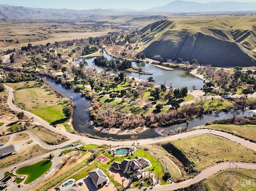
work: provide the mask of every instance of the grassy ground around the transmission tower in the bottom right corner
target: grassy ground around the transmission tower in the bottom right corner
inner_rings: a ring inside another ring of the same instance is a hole
[[[227,181],[228,185],[232,187],[232,191],[254,191],[256,190],[256,170],[251,169],[238,169],[234,179],[230,178]],[[219,191],[223,185],[223,182],[228,177],[228,171],[221,171],[215,175],[210,176],[202,183],[206,183],[210,191]]]

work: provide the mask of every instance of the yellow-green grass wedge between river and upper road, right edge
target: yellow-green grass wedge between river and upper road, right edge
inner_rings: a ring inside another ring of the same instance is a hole
[[[224,130],[234,135],[241,136],[256,141],[256,128],[255,125],[235,125],[235,124],[213,124],[208,126],[202,126],[199,128],[209,128],[216,130]]]

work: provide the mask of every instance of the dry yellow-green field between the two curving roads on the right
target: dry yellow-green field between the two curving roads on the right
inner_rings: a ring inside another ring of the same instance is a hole
[[[256,155],[252,150],[215,135],[190,136],[171,143],[194,163],[197,171],[219,161],[256,162]]]

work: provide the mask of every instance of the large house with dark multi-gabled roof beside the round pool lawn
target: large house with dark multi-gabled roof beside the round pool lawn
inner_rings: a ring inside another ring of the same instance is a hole
[[[115,170],[121,170],[123,173],[134,173],[137,178],[142,176],[142,169],[150,165],[148,159],[136,156],[134,159],[124,159],[121,163],[114,161],[111,167]]]

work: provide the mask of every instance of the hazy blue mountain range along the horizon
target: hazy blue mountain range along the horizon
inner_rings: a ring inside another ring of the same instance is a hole
[[[0,19],[31,19],[44,20],[53,19],[91,19],[102,18],[105,15],[125,14],[152,14],[156,12],[231,12],[231,11],[253,11],[256,10],[256,2],[210,2],[197,3],[186,1],[174,1],[160,7],[153,7],[148,10],[129,9],[92,9],[92,10],[70,10],[70,9],[46,9],[28,8],[22,6],[0,5]]]

